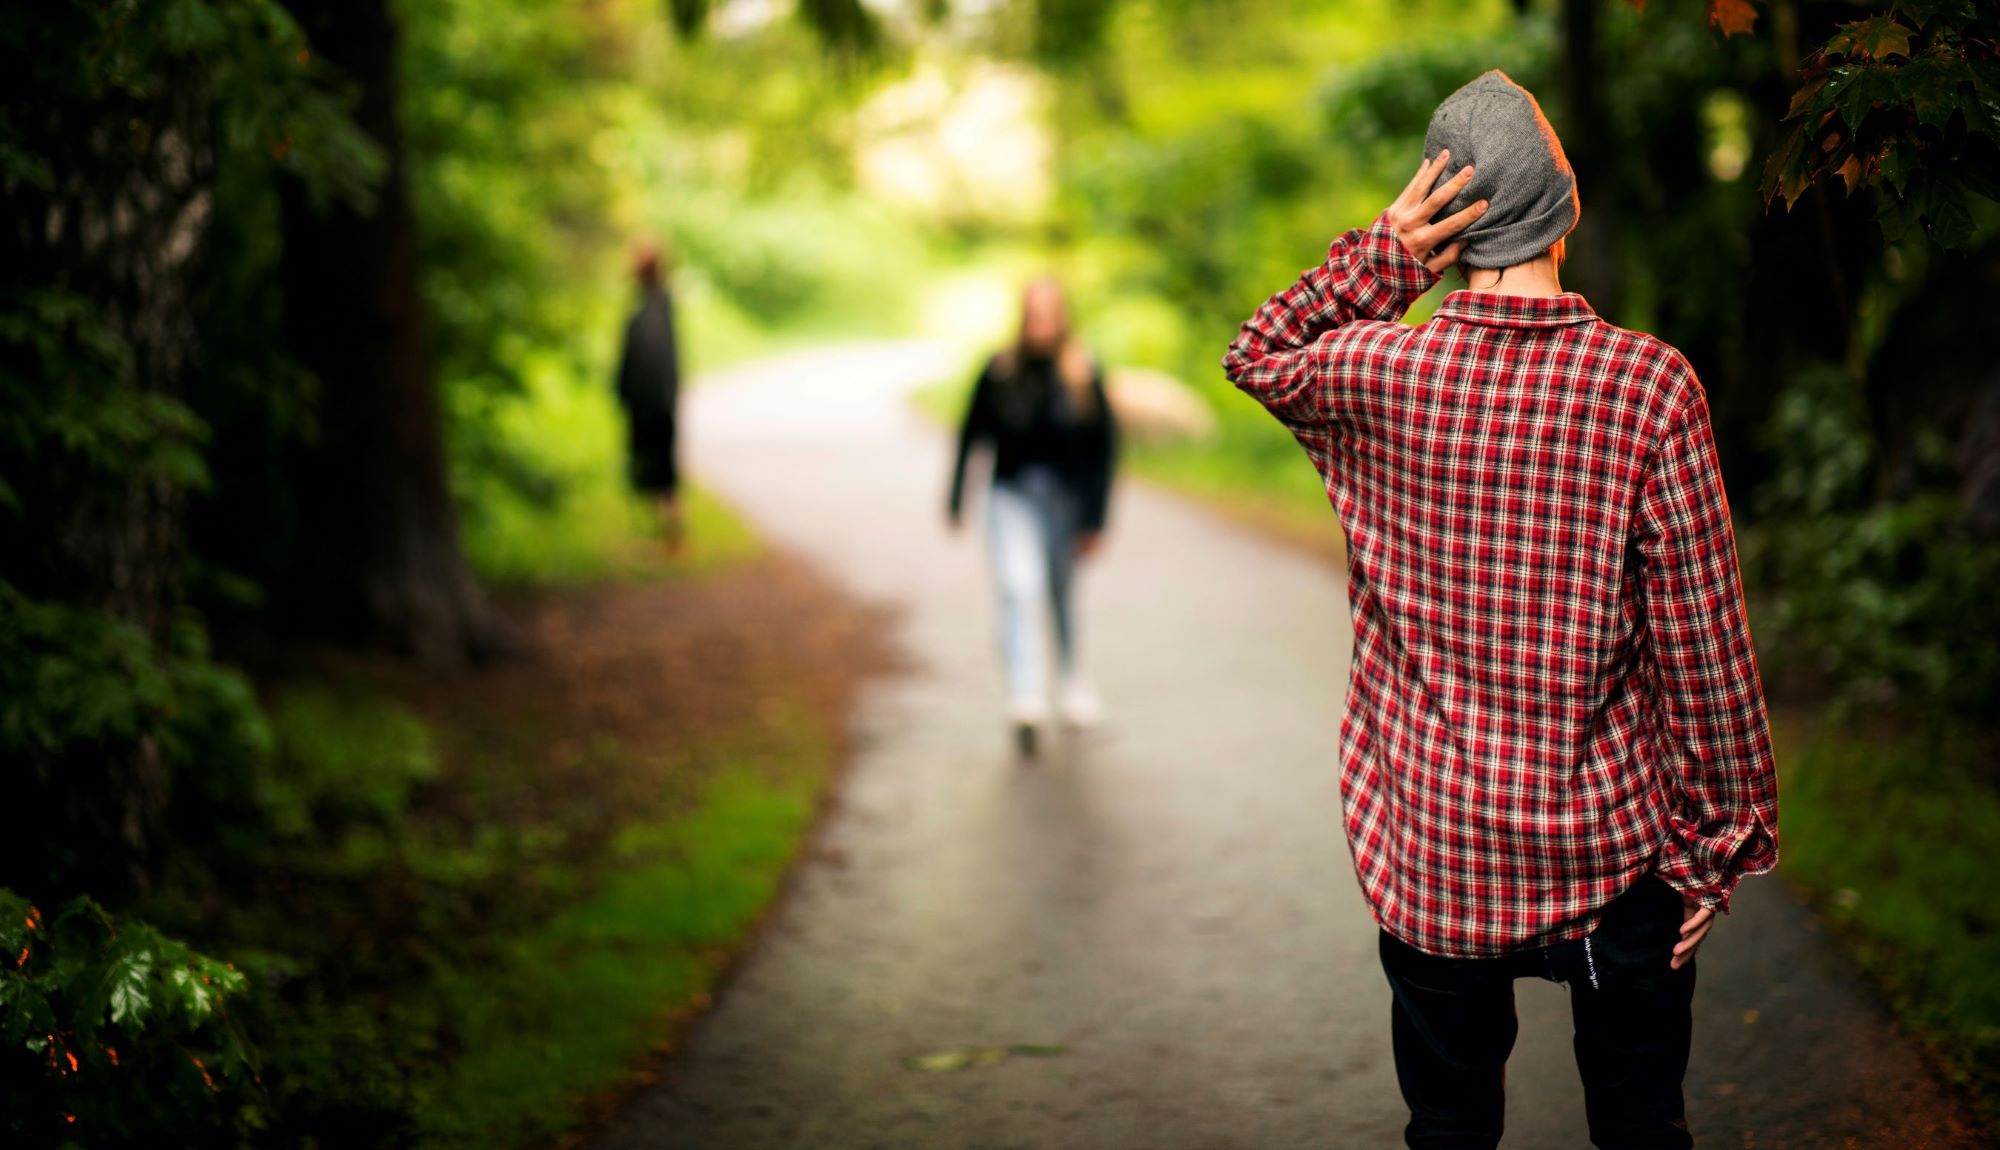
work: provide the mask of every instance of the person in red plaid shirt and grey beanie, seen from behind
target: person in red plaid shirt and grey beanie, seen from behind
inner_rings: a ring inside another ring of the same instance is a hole
[[[1708,404],[1562,290],[1576,184],[1532,94],[1480,76],[1424,154],[1222,360],[1348,540],[1340,792],[1406,1142],[1500,1142],[1514,980],[1540,976],[1570,986],[1592,1142],[1692,1146],[1694,952],[1778,860]],[[1466,290],[1402,324],[1454,264]]]

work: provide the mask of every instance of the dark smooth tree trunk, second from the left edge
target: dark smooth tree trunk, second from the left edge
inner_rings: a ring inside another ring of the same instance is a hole
[[[388,170],[372,212],[286,194],[286,340],[322,392],[300,474],[300,564],[280,606],[308,634],[460,664],[500,650],[504,634],[460,550],[446,478],[416,280],[398,28],[386,0],[290,6],[314,48],[358,84],[354,118]]]

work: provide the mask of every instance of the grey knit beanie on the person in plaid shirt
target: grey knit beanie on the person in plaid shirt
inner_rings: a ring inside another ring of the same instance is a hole
[[[1466,164],[1476,172],[1438,216],[1486,200],[1486,214],[1458,234],[1466,242],[1462,264],[1512,268],[1540,256],[1576,226],[1576,174],[1562,154],[1562,140],[1534,94],[1508,80],[1506,72],[1486,72],[1438,104],[1424,136],[1424,158],[1444,148],[1452,150],[1446,178]]]

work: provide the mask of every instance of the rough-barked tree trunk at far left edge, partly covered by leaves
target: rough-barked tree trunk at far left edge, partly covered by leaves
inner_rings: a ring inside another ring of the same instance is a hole
[[[82,314],[32,320],[54,350],[38,356],[34,340],[10,338],[0,370],[34,382],[38,408],[84,408],[84,418],[176,402],[196,358],[192,288],[212,202],[206,76],[182,66],[150,96],[52,94],[38,68],[66,66],[78,32],[52,18],[38,36],[6,62],[0,116],[48,160],[50,180],[0,182],[0,292],[10,304],[70,300]],[[92,332],[120,352],[94,350]],[[4,418],[36,426],[30,412]],[[180,598],[184,492],[172,468],[136,458],[160,446],[106,458],[46,428],[28,442],[6,436],[0,462],[18,508],[0,514],[0,580],[164,646]],[[0,836],[0,884],[28,894],[142,886],[168,800],[158,740],[24,740],[14,750],[24,762],[6,764],[22,790],[12,800],[34,826]]]

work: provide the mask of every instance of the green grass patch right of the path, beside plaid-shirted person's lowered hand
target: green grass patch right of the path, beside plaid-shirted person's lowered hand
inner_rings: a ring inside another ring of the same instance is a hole
[[[1794,716],[1778,736],[1782,872],[2000,1122],[2000,792],[1982,736],[1842,716]]]

